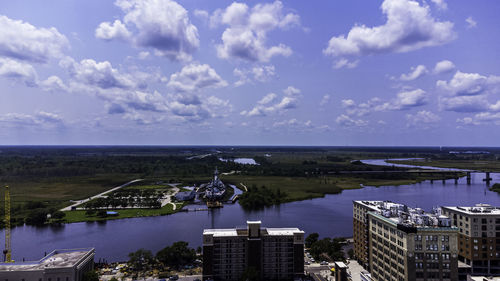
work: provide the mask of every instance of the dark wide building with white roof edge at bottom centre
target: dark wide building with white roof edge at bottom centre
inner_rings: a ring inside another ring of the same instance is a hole
[[[294,280],[304,275],[304,231],[263,228],[247,221],[246,228],[203,231],[203,280],[239,280],[245,273],[261,280]]]

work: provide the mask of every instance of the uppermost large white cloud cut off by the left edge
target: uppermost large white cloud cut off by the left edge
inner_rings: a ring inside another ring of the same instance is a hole
[[[68,39],[54,27],[38,28],[0,15],[0,30],[0,56],[4,57],[46,63],[69,47]]]

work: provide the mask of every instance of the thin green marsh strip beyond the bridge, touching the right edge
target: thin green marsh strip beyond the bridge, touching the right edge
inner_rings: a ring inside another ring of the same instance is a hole
[[[500,172],[500,161],[493,160],[432,160],[432,161],[388,161],[395,164],[434,166],[465,170]]]

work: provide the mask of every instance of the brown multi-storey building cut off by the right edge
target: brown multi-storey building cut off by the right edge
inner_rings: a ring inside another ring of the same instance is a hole
[[[477,204],[442,210],[459,229],[459,260],[471,266],[471,274],[500,276],[500,208]]]

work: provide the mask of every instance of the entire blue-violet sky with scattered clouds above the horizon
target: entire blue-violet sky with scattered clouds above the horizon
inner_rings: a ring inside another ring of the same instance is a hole
[[[498,1],[0,1],[0,144],[500,137]]]

